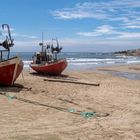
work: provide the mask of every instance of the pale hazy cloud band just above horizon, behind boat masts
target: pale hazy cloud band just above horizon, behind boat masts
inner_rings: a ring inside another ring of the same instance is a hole
[[[124,35],[125,36],[125,35]],[[16,52],[35,52],[41,48],[38,45],[40,40],[28,40],[15,42],[15,46],[12,47],[12,51]],[[63,47],[62,51],[94,51],[94,52],[109,52],[120,51],[125,49],[135,49],[140,47],[140,40],[126,40],[124,38],[114,39],[97,39],[97,38],[61,38],[59,39],[60,45]]]

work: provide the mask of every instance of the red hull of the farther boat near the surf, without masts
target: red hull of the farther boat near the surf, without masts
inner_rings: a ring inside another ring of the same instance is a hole
[[[38,73],[44,73],[48,75],[61,75],[62,71],[67,67],[67,61],[65,59],[58,60],[54,63],[31,64],[30,67]]]

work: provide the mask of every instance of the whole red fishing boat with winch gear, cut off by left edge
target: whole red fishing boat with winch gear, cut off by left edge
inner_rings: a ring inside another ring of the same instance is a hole
[[[2,29],[7,28],[8,35],[0,43],[4,50],[0,50],[0,85],[12,86],[23,69],[23,62],[18,56],[10,58],[10,47],[13,47],[10,27],[8,24],[2,24]]]

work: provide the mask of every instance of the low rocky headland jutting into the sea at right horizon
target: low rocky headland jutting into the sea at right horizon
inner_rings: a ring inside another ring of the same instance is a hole
[[[140,56],[140,49],[119,51],[115,52],[114,54],[121,54],[126,56]]]

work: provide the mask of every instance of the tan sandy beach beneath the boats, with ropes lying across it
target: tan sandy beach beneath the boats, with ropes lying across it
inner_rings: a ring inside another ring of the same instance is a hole
[[[24,70],[14,87],[0,87],[0,139],[139,140],[140,80],[101,69],[140,73],[140,65],[127,65],[53,77],[100,84],[91,86],[49,82]]]

